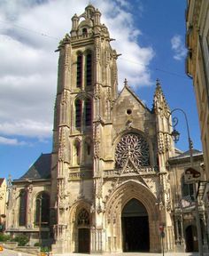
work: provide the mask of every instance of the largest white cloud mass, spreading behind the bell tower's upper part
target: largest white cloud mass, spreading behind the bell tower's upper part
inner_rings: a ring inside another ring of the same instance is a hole
[[[45,140],[52,133],[56,97],[58,52],[54,51],[59,40],[70,32],[74,13],[84,12],[89,0],[3,2],[0,3],[0,135]],[[122,54],[118,60],[120,89],[124,78],[133,87],[151,84],[149,64],[154,51],[137,43],[143,35],[135,27],[129,2],[93,0],[91,3],[102,12],[102,23],[116,39],[112,48]]]

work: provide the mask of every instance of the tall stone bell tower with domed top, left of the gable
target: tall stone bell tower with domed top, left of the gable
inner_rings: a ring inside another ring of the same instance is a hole
[[[79,243],[69,239],[73,236],[70,226],[77,221],[69,220],[69,212],[80,203],[90,212],[96,204],[94,195],[99,193],[100,136],[105,124],[111,123],[111,108],[118,95],[118,56],[100,17],[89,4],[80,16],[74,14],[70,35],[58,45],[50,200],[53,252],[79,252]]]

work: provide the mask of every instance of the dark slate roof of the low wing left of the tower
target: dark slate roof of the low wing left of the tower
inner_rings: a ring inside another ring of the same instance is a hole
[[[28,171],[19,178],[19,180],[25,179],[50,179],[50,164],[51,154],[42,154],[38,157],[34,164],[30,166]]]

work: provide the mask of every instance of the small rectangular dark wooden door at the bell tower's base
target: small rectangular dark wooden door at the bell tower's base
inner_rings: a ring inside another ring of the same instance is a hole
[[[89,228],[78,229],[78,252],[89,253],[90,230]]]

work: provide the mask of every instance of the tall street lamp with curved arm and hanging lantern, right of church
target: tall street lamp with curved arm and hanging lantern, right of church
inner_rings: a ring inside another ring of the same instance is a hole
[[[186,170],[187,171],[190,171],[190,175],[192,174],[193,175],[193,178],[196,178],[194,177],[194,173],[196,172],[197,174],[197,171],[193,168],[193,154],[192,154],[192,148],[193,148],[193,143],[192,143],[192,140],[190,139],[190,129],[189,129],[189,123],[188,123],[188,119],[187,119],[187,115],[186,113],[182,110],[182,108],[174,108],[171,113],[170,113],[170,116],[172,116],[172,114],[175,112],[175,111],[180,111],[182,112],[184,118],[185,118],[185,122],[186,122],[186,127],[187,127],[187,136],[188,136],[188,143],[189,143],[189,150],[190,150],[190,168],[188,168]],[[180,138],[180,132],[178,132],[175,127],[176,125],[178,124],[178,118],[177,117],[173,117],[172,118],[173,120],[173,125],[172,127],[174,128],[173,132],[171,132],[171,136],[172,136],[172,139],[174,140],[174,142],[176,143],[179,138]],[[169,120],[168,120],[169,121]],[[192,173],[193,172],[193,173]],[[184,173],[184,175],[187,174],[187,173]],[[198,176],[199,177],[199,176]],[[197,177],[197,178],[198,178]],[[185,179],[186,180],[186,179]],[[192,180],[192,183],[193,183],[193,187],[194,187],[194,194],[197,195],[197,187],[196,187],[196,179],[193,179]],[[195,210],[196,210],[196,223],[197,223],[197,239],[198,239],[198,251],[199,251],[199,255],[200,256],[203,256],[203,242],[202,242],[202,232],[201,232],[201,226],[200,226],[200,220],[199,220],[199,209],[198,209],[198,201],[197,201],[197,196],[195,196]]]

